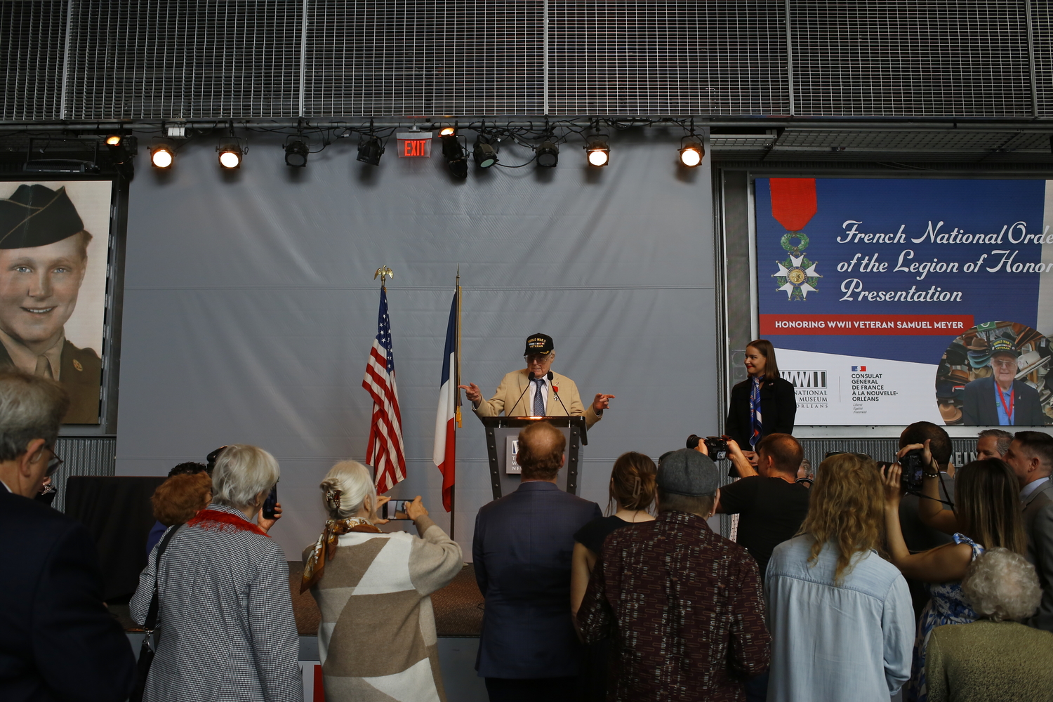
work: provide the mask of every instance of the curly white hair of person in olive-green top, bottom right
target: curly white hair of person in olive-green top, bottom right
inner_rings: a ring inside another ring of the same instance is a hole
[[[1035,614],[1042,597],[1035,566],[1008,548],[991,548],[969,566],[961,591],[973,611],[996,622]]]

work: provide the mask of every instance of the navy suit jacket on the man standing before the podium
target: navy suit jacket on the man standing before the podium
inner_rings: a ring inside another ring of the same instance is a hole
[[[574,534],[599,505],[553,483],[529,482],[475,518],[475,579],[486,600],[475,669],[484,678],[578,673],[571,622]]]

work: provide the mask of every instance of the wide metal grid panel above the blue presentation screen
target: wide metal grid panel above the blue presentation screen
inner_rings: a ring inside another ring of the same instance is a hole
[[[1022,0],[791,0],[801,116],[1030,117]]]

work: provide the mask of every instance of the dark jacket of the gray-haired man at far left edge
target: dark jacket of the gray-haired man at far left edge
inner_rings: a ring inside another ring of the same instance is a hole
[[[0,485],[0,700],[119,702],[135,681],[127,637],[99,595],[83,526]]]

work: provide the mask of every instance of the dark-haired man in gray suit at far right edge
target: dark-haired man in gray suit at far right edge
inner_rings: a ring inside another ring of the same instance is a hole
[[[1017,432],[1006,462],[1020,482],[1028,560],[1035,564],[1042,587],[1041,604],[1028,623],[1053,631],[1053,437],[1044,432]]]

